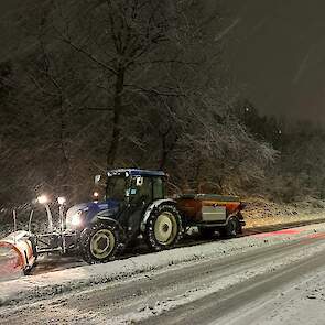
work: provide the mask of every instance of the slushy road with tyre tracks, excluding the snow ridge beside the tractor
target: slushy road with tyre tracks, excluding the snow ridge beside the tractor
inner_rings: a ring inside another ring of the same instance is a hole
[[[171,263],[127,279],[3,306],[0,323],[236,325],[304,319],[304,324],[324,324],[325,229],[318,227],[317,234],[308,231],[291,240],[282,240],[283,232],[257,236],[260,246],[223,258],[216,254]],[[247,240],[208,243],[202,250]],[[271,240],[272,245],[262,245]],[[151,258],[156,256],[160,253]]]

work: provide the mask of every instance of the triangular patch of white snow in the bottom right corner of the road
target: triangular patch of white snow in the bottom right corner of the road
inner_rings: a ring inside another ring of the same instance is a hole
[[[272,294],[239,307],[218,319],[218,325],[324,325],[325,270],[318,269],[289,282]]]

